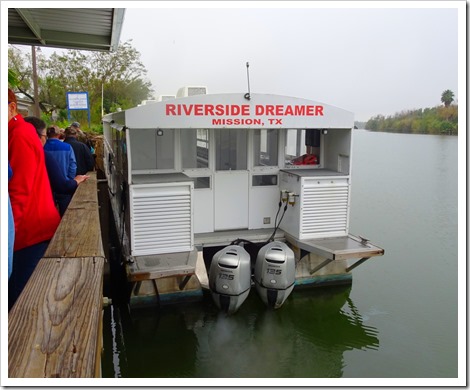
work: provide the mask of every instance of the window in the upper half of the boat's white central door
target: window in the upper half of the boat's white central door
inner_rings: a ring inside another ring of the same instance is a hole
[[[216,170],[246,170],[247,144],[246,129],[215,129]]]

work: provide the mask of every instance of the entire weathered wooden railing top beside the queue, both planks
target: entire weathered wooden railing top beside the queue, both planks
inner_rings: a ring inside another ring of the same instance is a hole
[[[105,255],[89,175],[8,315],[9,378],[101,376]]]

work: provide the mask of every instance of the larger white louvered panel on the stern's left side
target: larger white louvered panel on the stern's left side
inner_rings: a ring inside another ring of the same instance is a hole
[[[131,187],[132,255],[193,249],[192,183]]]

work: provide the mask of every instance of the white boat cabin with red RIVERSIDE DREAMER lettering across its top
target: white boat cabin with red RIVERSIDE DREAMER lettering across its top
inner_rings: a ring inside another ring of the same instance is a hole
[[[103,126],[111,204],[132,261],[272,234],[299,256],[383,254],[349,234],[351,112],[194,87],[106,115]]]

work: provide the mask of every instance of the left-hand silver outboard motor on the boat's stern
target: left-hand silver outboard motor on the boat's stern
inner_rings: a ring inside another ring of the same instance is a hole
[[[214,255],[209,288],[219,309],[229,314],[238,310],[251,288],[250,255],[244,248],[229,245]]]

